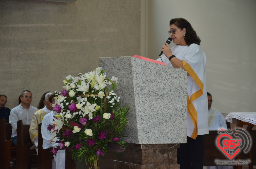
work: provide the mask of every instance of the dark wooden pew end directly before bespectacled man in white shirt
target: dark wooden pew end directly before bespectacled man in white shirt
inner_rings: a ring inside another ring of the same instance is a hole
[[[37,163],[37,152],[30,150],[33,145],[29,136],[30,125],[23,125],[22,121],[17,122],[17,155],[16,169],[30,169],[30,163]]]

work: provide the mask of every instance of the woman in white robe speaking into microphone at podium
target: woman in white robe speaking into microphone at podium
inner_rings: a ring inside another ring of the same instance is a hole
[[[209,133],[206,57],[199,46],[200,38],[186,19],[171,19],[168,33],[176,46],[170,48],[165,43],[162,46],[161,59],[167,66],[184,68],[187,71],[187,143],[180,144],[177,162],[182,169],[199,169],[203,168],[202,135]]]

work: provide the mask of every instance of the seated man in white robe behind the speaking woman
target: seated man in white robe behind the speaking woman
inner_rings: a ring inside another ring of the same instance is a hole
[[[211,107],[213,103],[213,97],[207,92],[208,97],[208,121],[209,130],[227,130],[227,124],[224,116],[219,112],[218,109]]]

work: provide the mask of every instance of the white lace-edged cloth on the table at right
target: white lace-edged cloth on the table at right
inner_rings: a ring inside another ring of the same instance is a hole
[[[256,125],[256,112],[233,112],[226,116],[226,120],[232,123],[232,118]]]

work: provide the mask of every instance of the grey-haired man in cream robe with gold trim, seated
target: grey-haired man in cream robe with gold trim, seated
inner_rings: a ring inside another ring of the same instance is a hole
[[[55,94],[54,93],[46,93],[45,94],[45,101],[46,106],[42,109],[37,110],[32,118],[30,127],[29,127],[29,135],[31,142],[34,144],[30,149],[36,149],[38,147],[38,125],[42,123],[43,117],[50,113],[53,110],[53,107],[50,105],[50,100],[54,100]]]

